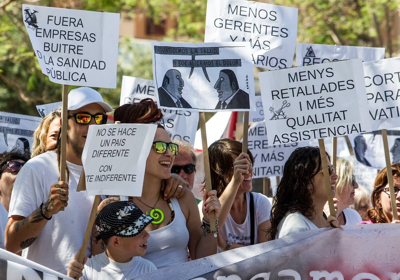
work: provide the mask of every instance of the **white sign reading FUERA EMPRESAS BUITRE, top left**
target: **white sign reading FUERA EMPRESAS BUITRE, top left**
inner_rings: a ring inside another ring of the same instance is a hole
[[[23,4],[22,17],[50,81],[116,88],[120,14]]]

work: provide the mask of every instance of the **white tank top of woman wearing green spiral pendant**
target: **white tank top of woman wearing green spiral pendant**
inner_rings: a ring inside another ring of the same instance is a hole
[[[146,254],[143,256],[160,269],[188,261],[189,232],[186,228],[186,218],[183,215],[178,200],[171,198],[175,218],[171,224],[148,232]]]

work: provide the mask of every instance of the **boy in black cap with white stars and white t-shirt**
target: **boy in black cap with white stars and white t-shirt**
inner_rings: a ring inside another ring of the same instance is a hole
[[[130,201],[106,205],[95,221],[99,233],[96,238],[103,240],[106,251],[90,259],[85,257],[83,264],[78,262],[78,255],[75,256],[67,276],[80,277],[81,280],[120,280],[156,270],[152,262],[141,257],[146,253],[150,236],[144,229],[152,220]]]

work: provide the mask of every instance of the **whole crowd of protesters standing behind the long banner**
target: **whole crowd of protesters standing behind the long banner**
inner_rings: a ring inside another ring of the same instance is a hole
[[[326,154],[335,216],[327,203],[318,147],[299,147],[284,165],[274,204],[252,192],[254,158],[242,143],[220,139],[208,148],[212,190],[192,193],[196,156],[187,141],[171,139],[152,99],[114,111],[120,123],[157,124],[140,197],[102,196],[78,262],[94,197],[76,191],[88,126],[105,124],[113,109],[88,87],[68,95],[67,179],[59,180],[60,110],[49,113],[27,151],[0,154],[0,247],[80,279],[130,279],[226,250],[318,228],[400,223],[393,219],[386,168],[372,196],[356,182],[351,161]],[[400,164],[392,164],[400,215]],[[96,207],[97,205],[95,205]],[[64,211],[60,211],[64,207]],[[210,225],[214,212],[216,231]],[[146,213],[146,214],[144,214]],[[149,214],[150,213],[150,214]],[[157,214],[157,215],[154,215]],[[156,218],[158,217],[158,218]],[[337,218],[336,218],[337,217]],[[4,236],[3,236],[4,234]]]

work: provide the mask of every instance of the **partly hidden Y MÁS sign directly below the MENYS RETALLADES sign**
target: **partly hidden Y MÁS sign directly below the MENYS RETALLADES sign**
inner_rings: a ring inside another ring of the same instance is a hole
[[[248,149],[254,157],[253,178],[281,176],[290,154],[303,145],[304,142],[268,146],[264,121],[254,123],[248,129]]]

